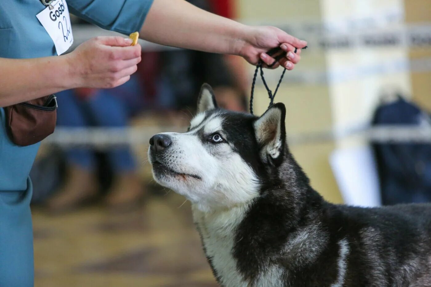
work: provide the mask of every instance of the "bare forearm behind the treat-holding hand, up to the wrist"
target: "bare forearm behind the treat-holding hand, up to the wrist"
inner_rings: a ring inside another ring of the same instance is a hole
[[[76,86],[66,56],[0,58],[0,67],[0,106],[10,106]]]

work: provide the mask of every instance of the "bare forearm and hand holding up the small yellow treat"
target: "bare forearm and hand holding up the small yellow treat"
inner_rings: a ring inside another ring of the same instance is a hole
[[[72,53],[36,59],[0,58],[0,106],[75,87],[124,84],[141,61],[141,46],[123,37],[95,37]]]

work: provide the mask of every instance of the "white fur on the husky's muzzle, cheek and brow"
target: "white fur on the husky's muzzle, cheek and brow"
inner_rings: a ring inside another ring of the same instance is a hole
[[[203,127],[205,134],[221,130],[222,116],[212,115],[203,122],[202,114],[191,121],[191,131],[164,133],[172,140],[168,162],[165,164],[178,173],[197,175],[201,179],[185,176],[154,178],[159,184],[180,193],[202,211],[231,207],[250,202],[259,195],[259,181],[255,172],[234,152],[229,143],[203,144],[197,130]],[[150,153],[148,156],[151,157]]]

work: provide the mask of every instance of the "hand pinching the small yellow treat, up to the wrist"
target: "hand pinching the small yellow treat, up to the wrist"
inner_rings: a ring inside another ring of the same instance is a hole
[[[141,45],[120,36],[95,37],[67,56],[74,87],[112,88],[124,84],[141,62]]]

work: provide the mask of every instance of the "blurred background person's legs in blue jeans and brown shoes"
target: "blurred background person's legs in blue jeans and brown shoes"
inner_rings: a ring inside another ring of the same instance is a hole
[[[116,88],[78,88],[57,94],[62,112],[59,127],[127,127],[129,119],[144,105],[144,91],[136,76]],[[63,187],[48,201],[51,211],[66,211],[94,202],[99,194],[97,156],[90,147],[64,150],[67,172]],[[107,192],[110,207],[130,207],[144,194],[130,147],[113,147],[106,153],[114,179]]]

